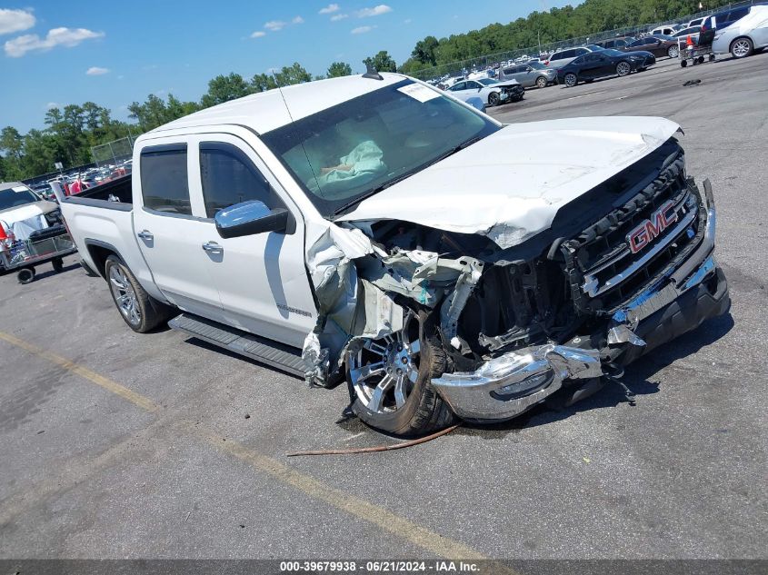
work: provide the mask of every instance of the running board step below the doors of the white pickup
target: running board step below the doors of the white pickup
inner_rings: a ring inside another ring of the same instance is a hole
[[[168,322],[168,327],[304,378],[305,368],[301,350],[284,343],[273,342],[253,333],[241,332],[223,323],[212,322],[189,313],[176,316]]]

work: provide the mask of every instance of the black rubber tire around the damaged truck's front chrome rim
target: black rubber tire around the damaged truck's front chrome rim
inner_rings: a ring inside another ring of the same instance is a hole
[[[358,396],[352,410],[367,425],[397,436],[422,436],[443,430],[456,421],[456,416],[430,381],[442,375],[445,366],[445,352],[440,345],[422,336],[418,377],[403,407],[384,413],[371,411]],[[347,382],[352,381],[349,367],[347,362]]]

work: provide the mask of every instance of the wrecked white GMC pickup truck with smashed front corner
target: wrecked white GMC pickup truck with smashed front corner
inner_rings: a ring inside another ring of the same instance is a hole
[[[170,325],[324,386],[368,424],[573,402],[730,305],[714,204],[662,118],[502,125],[400,74],[254,94],[59,196],[136,332]],[[609,376],[609,377],[605,377]]]

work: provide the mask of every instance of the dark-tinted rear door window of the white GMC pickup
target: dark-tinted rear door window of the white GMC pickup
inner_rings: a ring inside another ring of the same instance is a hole
[[[186,172],[186,144],[158,145],[141,154],[144,205],[150,210],[192,215]]]

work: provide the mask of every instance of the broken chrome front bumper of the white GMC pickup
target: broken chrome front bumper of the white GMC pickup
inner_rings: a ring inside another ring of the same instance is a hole
[[[645,342],[633,330],[638,325],[643,328],[653,325],[651,315],[671,305],[683,293],[701,285],[716,273],[712,188],[709,181],[704,181],[703,187],[707,222],[702,243],[688,259],[664,275],[663,286],[655,283],[613,314],[606,326],[610,345],[643,347]],[[727,298],[727,290],[724,297]],[[685,331],[693,329],[701,321],[702,318],[692,317]],[[643,332],[646,331],[643,329]],[[578,342],[577,338],[572,341],[574,344]],[[462,419],[503,421],[543,402],[566,381],[589,380],[605,375],[600,356],[599,350],[551,343],[504,353],[484,362],[474,372],[444,373],[432,380],[432,384]]]

